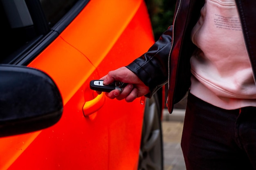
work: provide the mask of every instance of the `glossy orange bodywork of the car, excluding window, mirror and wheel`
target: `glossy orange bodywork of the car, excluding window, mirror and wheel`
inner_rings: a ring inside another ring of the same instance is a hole
[[[143,0],[91,0],[29,64],[56,82],[63,115],[47,129],[1,138],[0,170],[137,169],[144,106],[97,95],[89,82],[153,44],[146,10]]]

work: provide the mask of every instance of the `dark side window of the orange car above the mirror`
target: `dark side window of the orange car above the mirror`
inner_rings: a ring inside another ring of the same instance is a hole
[[[16,64],[46,35],[49,37],[51,28],[77,1],[0,0],[2,28],[0,64]],[[48,44],[54,38],[48,40]],[[45,47],[46,45],[42,46],[41,50]]]

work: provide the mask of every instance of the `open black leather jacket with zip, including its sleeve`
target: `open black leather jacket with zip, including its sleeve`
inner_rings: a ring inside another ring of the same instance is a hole
[[[255,82],[256,0],[235,1]],[[173,104],[184,97],[191,84],[189,59],[196,46],[191,42],[190,33],[200,17],[203,5],[204,0],[177,0],[173,25],[162,34],[148,52],[127,66],[149,86],[150,94],[147,97],[152,96],[168,82],[167,106],[170,113]]]

